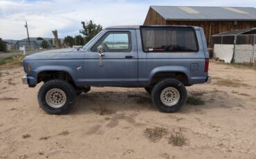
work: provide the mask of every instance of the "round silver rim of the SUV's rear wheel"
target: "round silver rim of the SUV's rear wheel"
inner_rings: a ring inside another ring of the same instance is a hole
[[[180,97],[179,91],[174,87],[164,88],[160,95],[161,102],[166,106],[174,106],[179,102]]]

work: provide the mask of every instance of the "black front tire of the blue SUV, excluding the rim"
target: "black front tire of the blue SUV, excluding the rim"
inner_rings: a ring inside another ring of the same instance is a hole
[[[53,88],[59,88],[66,94],[66,102],[60,108],[53,108],[48,105],[46,102],[46,93]],[[39,106],[49,114],[66,114],[73,108],[75,104],[75,88],[68,82],[61,79],[52,79],[46,83],[39,89],[37,100],[39,102]]]

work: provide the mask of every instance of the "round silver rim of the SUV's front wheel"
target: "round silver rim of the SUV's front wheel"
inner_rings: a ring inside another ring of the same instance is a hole
[[[59,88],[53,88],[46,93],[46,103],[58,109],[66,103],[66,93]]]

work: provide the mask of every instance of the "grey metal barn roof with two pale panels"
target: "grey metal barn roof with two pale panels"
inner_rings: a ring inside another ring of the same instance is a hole
[[[150,6],[166,20],[255,21],[253,7]]]

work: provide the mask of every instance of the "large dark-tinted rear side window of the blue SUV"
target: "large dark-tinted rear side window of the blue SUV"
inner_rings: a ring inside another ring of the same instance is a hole
[[[192,27],[150,27],[140,28],[143,51],[152,53],[198,52],[196,33]]]

